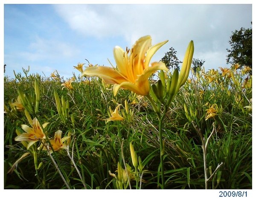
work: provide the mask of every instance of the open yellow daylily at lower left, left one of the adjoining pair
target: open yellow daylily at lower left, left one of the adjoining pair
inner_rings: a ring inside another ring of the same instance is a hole
[[[26,131],[26,133],[20,134],[15,137],[15,141],[22,142],[27,141],[29,142],[27,148],[31,147],[35,142],[38,142],[40,139],[45,139],[45,134],[38,122],[38,119],[34,118],[32,120],[32,128],[28,125],[21,125],[21,128]],[[43,128],[45,128],[49,122],[43,124]]]

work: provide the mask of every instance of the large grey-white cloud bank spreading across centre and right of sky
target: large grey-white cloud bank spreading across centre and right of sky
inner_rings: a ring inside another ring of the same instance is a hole
[[[221,57],[221,63],[225,63],[231,31],[245,24],[250,27],[252,20],[251,5],[243,4],[83,4],[54,8],[84,37],[123,37],[128,46],[147,34],[151,35],[152,44],[169,40],[157,52],[161,53],[155,56],[158,59],[174,47],[178,58],[183,60],[187,44],[194,40],[195,55],[204,53],[206,57],[202,59],[206,63],[212,57]]]

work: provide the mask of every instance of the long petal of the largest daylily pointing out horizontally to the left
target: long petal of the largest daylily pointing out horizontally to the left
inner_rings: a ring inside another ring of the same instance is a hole
[[[118,71],[105,66],[86,68],[82,73],[82,76],[84,75],[101,77],[107,84],[120,84],[128,81],[127,78]]]

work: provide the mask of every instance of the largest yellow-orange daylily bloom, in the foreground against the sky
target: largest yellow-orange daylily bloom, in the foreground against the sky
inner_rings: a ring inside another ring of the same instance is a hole
[[[141,37],[131,50],[124,51],[119,46],[113,50],[116,69],[104,66],[86,68],[83,76],[101,77],[106,83],[113,84],[114,95],[119,88],[128,89],[139,95],[149,94],[148,77],[157,70],[168,70],[162,62],[149,62],[155,52],[167,41],[151,46],[151,37]]]

